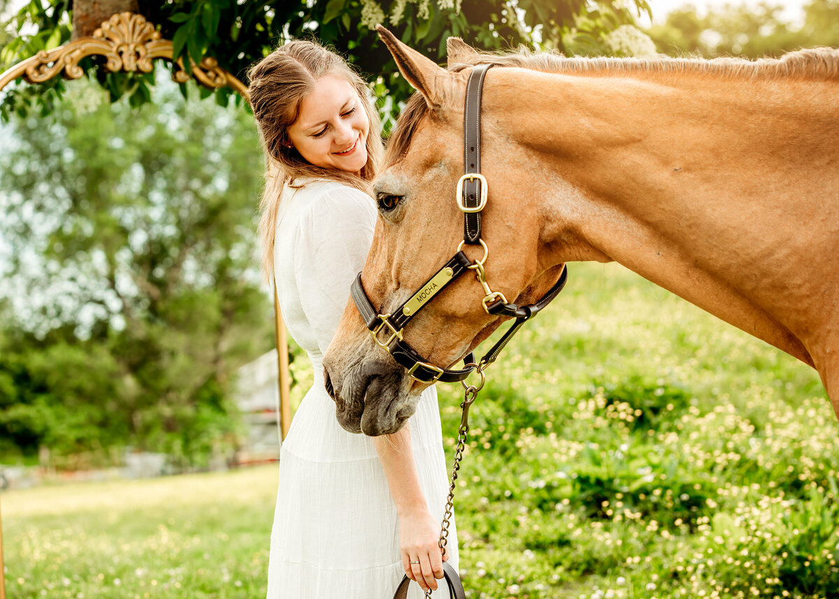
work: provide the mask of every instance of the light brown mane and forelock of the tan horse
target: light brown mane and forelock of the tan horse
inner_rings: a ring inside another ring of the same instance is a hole
[[[778,59],[761,58],[671,58],[650,56],[645,58],[612,58],[583,56],[567,57],[557,52],[534,52],[521,47],[518,51],[503,54],[476,52],[465,62],[449,65],[448,70],[458,72],[475,65],[518,67],[544,73],[562,73],[580,76],[610,75],[633,76],[698,74],[739,80],[800,79],[815,81],[839,80],[839,50],[810,48],[789,52]],[[410,140],[420,121],[429,114],[428,105],[419,92],[410,96],[399,115],[396,128],[388,141],[385,161],[399,162],[408,152]]]

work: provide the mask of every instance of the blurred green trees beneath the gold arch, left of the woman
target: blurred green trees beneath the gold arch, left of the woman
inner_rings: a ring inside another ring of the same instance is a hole
[[[49,118],[7,126],[0,450],[235,442],[232,372],[273,332],[258,140],[247,113],[165,87],[138,111],[76,81]]]

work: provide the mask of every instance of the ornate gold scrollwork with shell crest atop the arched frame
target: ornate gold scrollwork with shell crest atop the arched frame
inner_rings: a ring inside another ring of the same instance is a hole
[[[111,72],[151,72],[152,60],[172,60],[172,42],[162,39],[160,32],[143,15],[119,13],[102,23],[91,37],[76,39],[59,48],[40,50],[37,55],[19,62],[0,75],[0,89],[8,82],[23,77],[29,83],[43,83],[55,76],[78,79],[84,74],[79,66],[86,56],[103,56],[105,69]],[[218,65],[218,60],[205,57],[201,65],[190,65],[191,76],[183,65],[183,59],[175,61],[172,78],[179,83],[194,77],[202,86],[218,89],[231,86],[244,95],[246,88],[235,76]]]

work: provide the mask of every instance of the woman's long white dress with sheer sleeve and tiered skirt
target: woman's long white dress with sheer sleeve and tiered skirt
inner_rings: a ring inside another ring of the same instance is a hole
[[[274,246],[279,304],[289,333],[309,355],[315,383],[280,454],[268,599],[391,599],[404,574],[396,508],[373,440],[338,425],[322,374],[375,222],[368,195],[333,181],[287,186],[280,200]],[[449,484],[434,387],[422,394],[409,423],[425,499],[442,520]],[[457,568],[453,524],[449,563]],[[448,597],[440,583],[434,596]],[[419,585],[411,586],[411,596],[423,596]]]

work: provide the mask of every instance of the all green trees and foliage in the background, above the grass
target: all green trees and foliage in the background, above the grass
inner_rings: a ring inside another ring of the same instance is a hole
[[[335,44],[372,82],[388,130],[409,88],[370,30],[378,21],[440,61],[451,34],[569,55],[754,58],[839,44],[834,0],[237,4],[229,31],[233,3],[143,8],[184,55],[216,55],[239,76],[293,34]],[[69,41],[70,8],[0,3],[0,70]],[[272,409],[268,396],[248,404],[260,393],[250,383],[237,392],[238,369],[273,346],[253,119],[229,88],[175,84],[166,65],[86,69],[0,92],[0,462],[78,470],[124,465],[127,451],[163,455],[170,471],[236,461],[250,436],[272,439],[270,417],[242,419]],[[263,388],[271,361],[259,363],[247,378]]]

